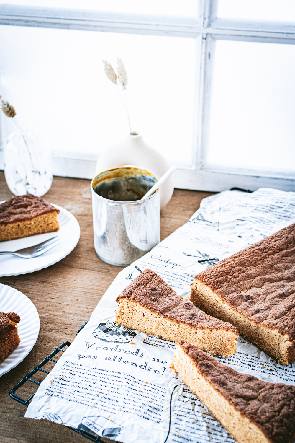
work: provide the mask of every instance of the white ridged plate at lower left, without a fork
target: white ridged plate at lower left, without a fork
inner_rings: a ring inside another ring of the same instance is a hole
[[[0,283],[0,311],[15,312],[20,317],[17,325],[20,343],[4,358],[0,365],[0,377],[15,368],[33,349],[39,335],[40,320],[38,311],[22,292]]]

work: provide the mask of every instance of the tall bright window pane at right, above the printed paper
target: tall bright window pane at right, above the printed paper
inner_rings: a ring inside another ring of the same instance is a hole
[[[208,165],[295,170],[295,46],[218,40]]]

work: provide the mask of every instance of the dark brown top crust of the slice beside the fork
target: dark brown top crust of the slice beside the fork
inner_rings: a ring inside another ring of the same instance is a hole
[[[16,221],[25,221],[49,212],[57,212],[58,214],[59,210],[43,198],[32,194],[19,195],[0,204],[0,224],[7,225]]]

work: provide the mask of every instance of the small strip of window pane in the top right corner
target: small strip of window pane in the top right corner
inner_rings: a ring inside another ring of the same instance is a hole
[[[295,21],[294,0],[219,0],[218,17]]]

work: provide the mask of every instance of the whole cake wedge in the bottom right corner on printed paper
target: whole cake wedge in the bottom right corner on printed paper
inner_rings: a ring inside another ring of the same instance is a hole
[[[241,374],[183,341],[171,368],[239,443],[294,443],[295,386]]]

